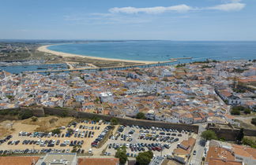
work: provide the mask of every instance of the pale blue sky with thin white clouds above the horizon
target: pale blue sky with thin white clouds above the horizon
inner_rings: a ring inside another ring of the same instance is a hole
[[[256,0],[0,0],[0,38],[256,41]]]

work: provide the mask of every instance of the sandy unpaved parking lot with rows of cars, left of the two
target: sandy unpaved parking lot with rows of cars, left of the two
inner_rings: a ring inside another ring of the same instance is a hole
[[[11,138],[2,141],[0,155],[71,152],[74,145],[77,145],[78,153],[85,153],[91,148],[92,141],[95,141],[106,127],[109,127],[107,122],[96,123],[84,120],[61,127],[61,134],[15,130],[9,135]]]

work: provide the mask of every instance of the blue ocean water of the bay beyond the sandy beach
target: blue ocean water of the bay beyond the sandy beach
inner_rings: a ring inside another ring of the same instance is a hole
[[[193,57],[190,61],[256,59],[256,42],[88,42],[49,46],[48,49],[135,61],[169,61],[176,57]]]

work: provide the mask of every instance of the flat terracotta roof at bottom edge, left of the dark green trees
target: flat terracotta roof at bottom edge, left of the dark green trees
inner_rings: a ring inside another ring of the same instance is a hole
[[[118,165],[118,158],[79,158],[78,165]]]

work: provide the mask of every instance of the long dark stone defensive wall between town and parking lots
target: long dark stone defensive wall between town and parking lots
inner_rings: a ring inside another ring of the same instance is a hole
[[[43,117],[46,115],[51,116],[70,116],[75,118],[100,118],[107,121],[110,121],[112,116],[104,116],[95,113],[88,113],[88,112],[77,112],[75,110],[65,109],[65,108],[9,108],[6,109],[8,111],[24,111],[25,109],[31,110],[33,115],[36,117]],[[0,110],[1,111],[1,110]],[[119,118],[115,117],[119,120],[120,124],[123,125],[140,125],[140,126],[147,126],[147,127],[164,127],[170,128],[175,130],[191,130],[195,133],[198,133],[198,126],[195,125],[188,125],[183,123],[164,123],[160,121],[151,121],[151,120],[144,120],[144,119],[128,119],[128,118]],[[235,141],[237,135],[239,134],[240,129],[235,127],[230,128],[222,128],[222,127],[215,127],[209,126],[207,130],[213,130],[218,138],[224,138],[227,141]],[[256,130],[244,129],[243,134],[245,136],[256,136]]]

